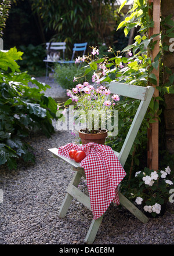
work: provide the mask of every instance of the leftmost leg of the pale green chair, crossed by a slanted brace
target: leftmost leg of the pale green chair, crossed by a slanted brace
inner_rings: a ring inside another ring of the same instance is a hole
[[[79,172],[75,172],[74,177],[73,177],[73,179],[70,183],[72,185],[74,185],[75,187],[77,187],[80,180],[81,180],[81,176],[82,176],[82,174],[80,174]],[[61,208],[59,210],[59,217],[60,218],[65,217],[65,215],[68,211],[68,208],[70,207],[70,204],[71,204],[72,200],[73,200],[73,196],[71,196],[71,194],[69,194],[69,193],[66,193],[63,204],[61,205]]]

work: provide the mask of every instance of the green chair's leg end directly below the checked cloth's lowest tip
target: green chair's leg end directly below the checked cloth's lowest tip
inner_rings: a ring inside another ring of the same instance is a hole
[[[99,227],[100,227],[103,217],[104,217],[104,214],[100,218],[92,220],[92,222],[90,224],[90,228],[88,230],[88,233],[85,237],[86,244],[92,244],[93,241],[95,240],[97,231],[99,230]]]

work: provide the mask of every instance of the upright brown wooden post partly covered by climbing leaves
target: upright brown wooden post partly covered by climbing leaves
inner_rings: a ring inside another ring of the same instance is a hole
[[[149,0],[149,3],[153,2],[153,20],[154,20],[154,27],[149,29],[149,36],[153,34],[160,34],[160,0]],[[153,52],[151,53],[152,60],[157,56],[158,52],[160,51],[160,36],[154,38],[154,41],[157,40],[157,44],[155,44]],[[153,85],[154,87],[159,85],[159,66],[156,70],[153,69],[153,74],[157,77],[157,85]],[[154,96],[157,97],[159,95],[158,89],[155,88]],[[155,171],[158,170],[158,119],[155,118],[156,122],[150,124],[150,128],[148,129],[148,149],[147,149],[147,166],[150,169]]]

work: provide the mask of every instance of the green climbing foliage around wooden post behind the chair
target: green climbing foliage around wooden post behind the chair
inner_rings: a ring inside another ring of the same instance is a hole
[[[125,3],[126,1],[124,4]],[[85,67],[84,77],[86,74],[93,72],[93,74],[97,74],[97,78],[95,77],[96,79],[93,81],[100,84],[107,85],[115,80],[139,86],[147,86],[150,84],[157,85],[157,77],[153,74],[153,70],[157,69],[159,66],[161,68],[162,54],[165,49],[161,45],[160,52],[155,56],[154,60],[151,59],[151,51],[153,51],[154,45],[157,43],[157,41],[154,40],[154,38],[157,37],[157,34],[151,35],[151,37],[148,35],[148,28],[154,26],[153,20],[149,16],[149,10],[152,8],[153,5],[148,6],[147,1],[134,1],[132,9],[128,12],[128,16],[126,16],[124,21],[121,21],[117,28],[118,30],[124,28],[125,36],[127,36],[131,28],[138,27],[139,31],[134,38],[133,44],[126,46],[121,52],[117,51],[116,53],[113,48],[109,47],[108,51],[112,53],[112,56],[99,56],[92,60],[89,60],[90,55],[85,56],[85,61],[88,65]],[[164,24],[171,26],[173,21],[169,20],[169,17],[167,17]],[[166,26],[166,28],[168,28],[168,26]],[[172,28],[171,30],[166,31],[166,35],[170,33],[169,31],[172,31]],[[164,47],[166,48],[166,46]],[[150,123],[155,122],[154,116],[157,116],[159,121],[161,121],[162,108],[160,107],[164,104],[164,93],[171,92],[173,88],[172,71],[168,70],[168,74],[168,84],[164,85],[162,84],[162,81],[160,81],[160,86],[156,87],[161,94],[151,100],[139,134],[132,147],[128,161],[129,164],[125,166],[126,172],[130,172],[129,179],[131,179],[132,174],[137,167],[142,168],[147,164],[147,128]],[[112,138],[112,140],[108,139],[107,142],[117,152],[121,149],[122,141],[125,139],[131,125],[130,120],[132,120],[133,114],[138,106],[137,100],[131,103],[128,98],[124,98],[123,100],[124,102],[119,102],[117,106],[119,110],[119,135],[116,138]],[[124,109],[124,111],[122,111],[122,109]],[[160,134],[160,136],[162,135]],[[143,161],[139,161],[140,156],[141,159],[143,157]]]

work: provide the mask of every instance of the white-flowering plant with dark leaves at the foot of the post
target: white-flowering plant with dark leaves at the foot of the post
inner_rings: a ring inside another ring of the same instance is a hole
[[[173,182],[168,177],[171,169],[168,167],[164,171],[150,170],[144,168],[138,171],[135,178],[139,182],[139,188],[132,193],[137,205],[143,205],[143,210],[155,217],[161,214],[162,205],[169,200],[169,191],[174,188]]]

